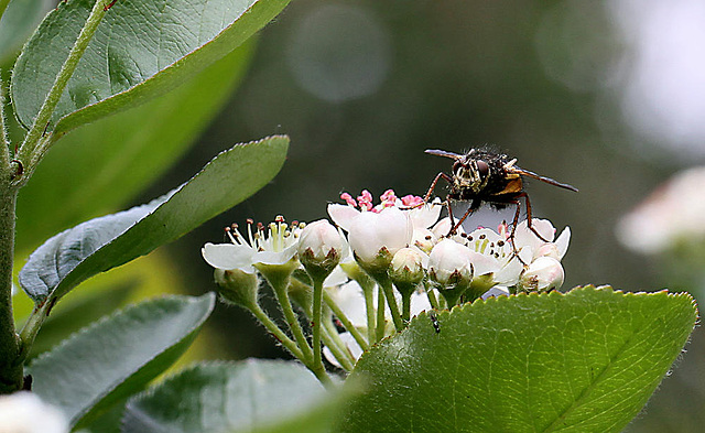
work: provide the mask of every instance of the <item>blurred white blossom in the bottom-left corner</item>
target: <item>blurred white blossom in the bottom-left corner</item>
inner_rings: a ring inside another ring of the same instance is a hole
[[[0,396],[0,433],[65,433],[66,416],[26,391]]]

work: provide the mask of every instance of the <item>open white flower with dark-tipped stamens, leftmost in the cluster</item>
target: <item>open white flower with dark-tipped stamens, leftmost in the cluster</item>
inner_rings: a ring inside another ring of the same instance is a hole
[[[299,225],[289,228],[280,216],[269,225],[269,230],[259,225],[253,231],[252,226],[252,220],[248,220],[247,238],[234,226],[227,231],[231,243],[206,243],[200,250],[203,258],[214,268],[248,273],[254,273],[253,264],[284,264],[294,258]]]

